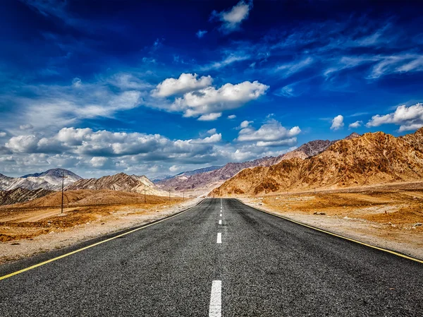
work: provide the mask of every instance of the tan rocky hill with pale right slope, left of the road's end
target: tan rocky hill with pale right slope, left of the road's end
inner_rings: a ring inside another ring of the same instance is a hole
[[[168,191],[159,189],[145,176],[128,175],[119,173],[99,179],[80,179],[66,187],[66,191],[78,189],[111,189],[113,191],[128,191],[133,193],[147,193],[147,195],[168,196]]]

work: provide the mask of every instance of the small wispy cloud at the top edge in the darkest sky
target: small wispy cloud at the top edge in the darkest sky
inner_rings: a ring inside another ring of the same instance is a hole
[[[240,1],[228,11],[213,11],[212,18],[221,20],[221,30],[223,32],[233,32],[238,30],[240,23],[248,17],[251,9],[252,1],[247,3],[245,1]]]

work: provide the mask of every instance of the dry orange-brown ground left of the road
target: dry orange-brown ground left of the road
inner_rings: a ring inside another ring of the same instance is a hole
[[[198,200],[121,191],[68,191],[0,207],[0,263],[142,225]]]

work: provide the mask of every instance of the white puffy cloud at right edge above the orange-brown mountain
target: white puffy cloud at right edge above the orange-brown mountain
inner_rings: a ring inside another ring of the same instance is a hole
[[[395,112],[385,115],[376,114],[367,122],[367,127],[381,126],[382,124],[396,124],[400,126],[399,131],[413,131],[423,126],[423,104],[417,103],[410,107],[397,107]]]

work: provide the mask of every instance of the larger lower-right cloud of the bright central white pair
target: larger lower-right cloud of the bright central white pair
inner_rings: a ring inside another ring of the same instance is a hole
[[[236,109],[257,100],[268,89],[268,85],[258,81],[245,81],[236,85],[226,83],[219,89],[208,87],[197,92],[188,92],[175,100],[173,109],[184,112],[184,116],[188,117],[211,114],[211,118],[216,119],[224,110]],[[209,118],[203,116],[204,119]]]

